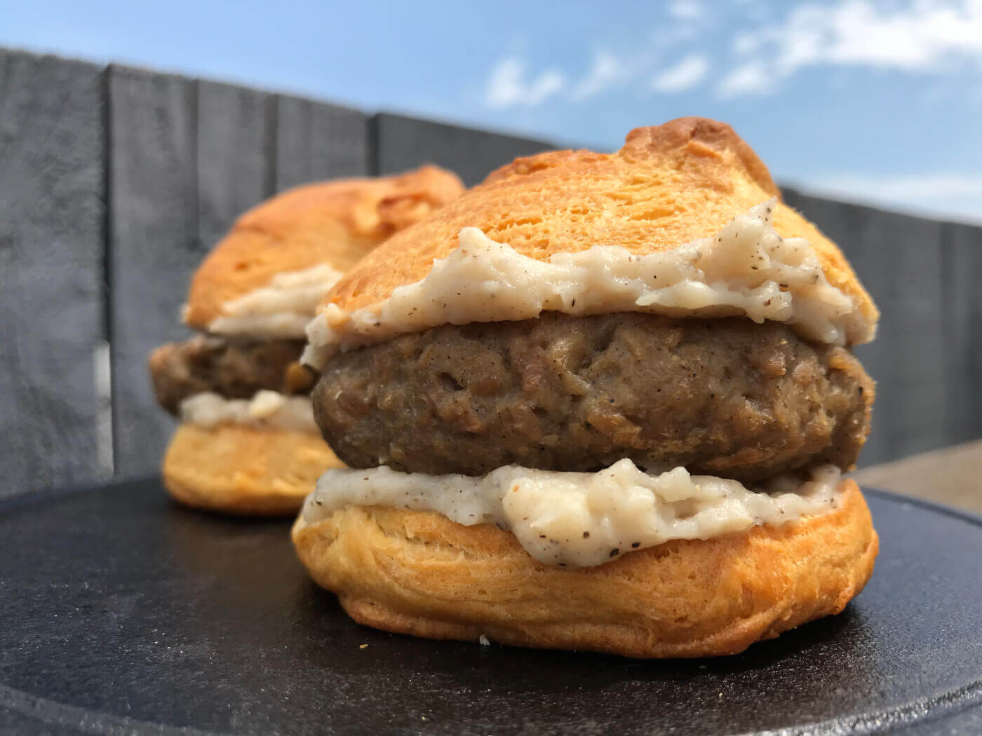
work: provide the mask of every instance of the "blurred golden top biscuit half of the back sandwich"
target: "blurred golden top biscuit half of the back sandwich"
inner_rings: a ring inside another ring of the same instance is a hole
[[[327,263],[347,271],[371,248],[464,191],[456,174],[423,166],[394,177],[305,184],[240,217],[191,280],[185,321],[204,329],[226,301],[276,274]]]

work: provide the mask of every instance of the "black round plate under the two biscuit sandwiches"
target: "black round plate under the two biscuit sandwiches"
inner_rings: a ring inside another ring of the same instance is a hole
[[[0,506],[0,731],[982,733],[982,521],[868,492],[882,539],[838,616],[737,657],[635,661],[364,628],[289,523],[156,479]]]

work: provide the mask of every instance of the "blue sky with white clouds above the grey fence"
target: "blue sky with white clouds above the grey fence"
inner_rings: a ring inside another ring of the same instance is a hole
[[[982,0],[33,0],[0,44],[599,150],[703,115],[783,183],[982,222]]]

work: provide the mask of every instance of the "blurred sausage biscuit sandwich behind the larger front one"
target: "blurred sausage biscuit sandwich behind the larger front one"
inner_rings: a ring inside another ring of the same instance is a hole
[[[425,166],[302,185],[239,218],[191,280],[184,321],[200,334],[150,356],[157,399],[181,420],[163,461],[175,499],[293,514],[317,477],[342,465],[314,424],[304,328],[365,253],[463,188]]]

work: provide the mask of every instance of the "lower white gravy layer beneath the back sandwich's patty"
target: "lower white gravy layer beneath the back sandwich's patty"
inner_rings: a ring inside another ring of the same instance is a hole
[[[249,427],[277,427],[319,434],[309,396],[259,391],[252,398],[226,398],[205,392],[181,402],[181,421],[213,427],[230,422]]]

